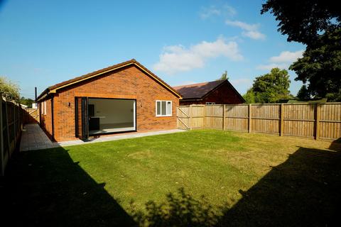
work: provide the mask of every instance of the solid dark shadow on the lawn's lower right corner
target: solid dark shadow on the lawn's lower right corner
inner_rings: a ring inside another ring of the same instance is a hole
[[[333,226],[340,216],[341,153],[298,148],[222,216],[218,226]]]

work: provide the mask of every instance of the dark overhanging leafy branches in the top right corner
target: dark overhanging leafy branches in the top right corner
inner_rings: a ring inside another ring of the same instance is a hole
[[[270,11],[278,23],[278,31],[288,35],[288,41],[310,45],[326,31],[341,28],[338,1],[332,0],[267,0],[261,14]]]

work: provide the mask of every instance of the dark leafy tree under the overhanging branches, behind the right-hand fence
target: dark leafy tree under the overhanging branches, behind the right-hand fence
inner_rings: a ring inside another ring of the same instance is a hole
[[[295,80],[308,83],[308,92],[328,101],[341,101],[341,29],[328,32],[308,45],[303,57],[289,68],[297,74]]]

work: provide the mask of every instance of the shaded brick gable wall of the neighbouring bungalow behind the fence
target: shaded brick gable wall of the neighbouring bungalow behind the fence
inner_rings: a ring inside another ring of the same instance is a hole
[[[240,98],[239,94],[234,92],[234,89],[229,83],[224,83],[202,101],[180,100],[180,105],[206,104],[206,102],[215,102],[215,104],[242,104],[244,100]]]

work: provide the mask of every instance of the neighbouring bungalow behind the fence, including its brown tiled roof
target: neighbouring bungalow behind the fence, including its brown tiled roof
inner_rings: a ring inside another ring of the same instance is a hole
[[[190,104],[242,104],[244,98],[227,79],[173,87],[183,99],[180,105]]]

